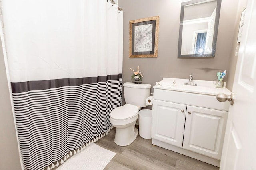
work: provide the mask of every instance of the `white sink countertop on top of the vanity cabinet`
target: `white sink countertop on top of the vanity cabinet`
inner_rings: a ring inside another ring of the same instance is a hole
[[[194,83],[197,83],[197,86],[185,85],[184,83],[188,82],[188,79],[180,79],[180,78],[163,78],[161,82],[164,82],[164,84],[172,84],[174,80],[175,80],[175,84],[173,86],[155,85],[153,88],[197,93],[197,94],[206,94],[206,95],[213,95],[213,96],[216,96],[219,93],[224,93],[227,95],[231,94],[230,90],[228,90],[225,87],[226,82],[224,83],[224,88],[216,88],[213,81],[205,81],[205,80],[193,80]]]

